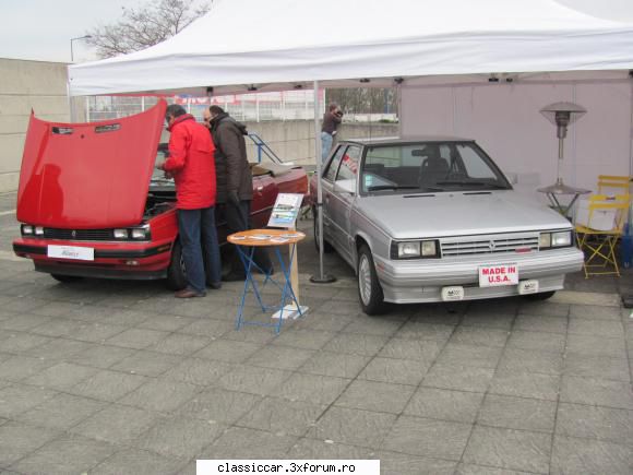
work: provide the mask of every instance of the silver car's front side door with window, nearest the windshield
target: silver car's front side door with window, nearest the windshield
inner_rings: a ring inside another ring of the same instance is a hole
[[[357,193],[360,146],[349,145],[341,159],[330,202],[332,234],[344,259],[351,262],[350,213]]]

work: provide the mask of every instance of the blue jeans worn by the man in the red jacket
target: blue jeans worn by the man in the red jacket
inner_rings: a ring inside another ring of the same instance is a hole
[[[204,292],[205,262],[208,282],[219,283],[222,264],[215,228],[215,207],[178,210],[178,231],[182,246],[182,260],[187,270],[188,288],[199,293]]]

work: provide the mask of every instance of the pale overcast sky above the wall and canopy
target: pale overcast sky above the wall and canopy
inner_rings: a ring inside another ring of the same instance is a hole
[[[156,0],[0,0],[0,58],[70,62],[71,38],[116,23],[123,5],[134,8],[148,1]],[[558,1],[596,16],[633,22],[633,0]],[[73,50],[75,62],[97,59],[83,40],[73,41]]]

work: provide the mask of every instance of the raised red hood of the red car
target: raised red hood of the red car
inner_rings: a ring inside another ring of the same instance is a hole
[[[92,123],[46,122],[31,115],[17,221],[58,228],[141,223],[167,105]]]

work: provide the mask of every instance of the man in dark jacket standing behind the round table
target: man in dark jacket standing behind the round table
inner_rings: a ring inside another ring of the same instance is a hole
[[[204,121],[208,123],[215,143],[217,203],[226,219],[227,230],[229,234],[247,230],[250,228],[253,199],[253,177],[244,140],[247,128],[219,106],[211,106],[205,110]],[[232,253],[231,270],[224,280],[243,281],[243,266],[235,249]],[[273,269],[265,249],[255,249],[254,261],[264,271],[271,272]]]

